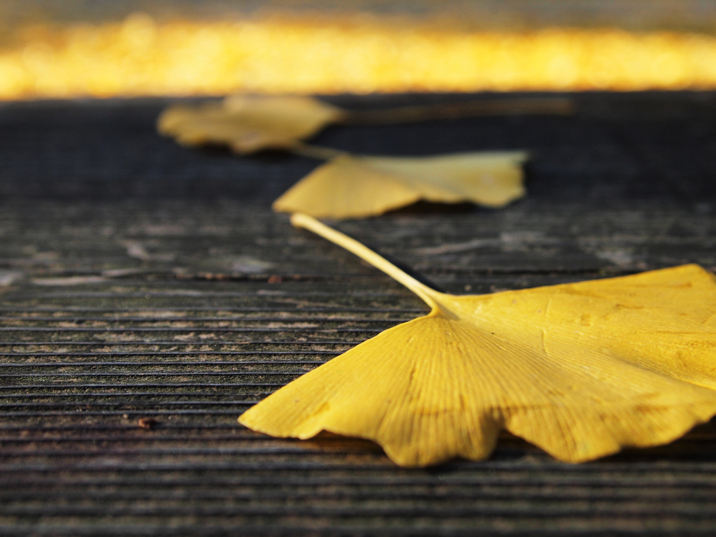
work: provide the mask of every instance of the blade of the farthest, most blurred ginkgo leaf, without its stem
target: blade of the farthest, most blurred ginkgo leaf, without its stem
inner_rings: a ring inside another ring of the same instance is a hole
[[[264,148],[290,149],[344,112],[311,97],[233,95],[222,102],[162,112],[158,130],[184,145],[222,144],[236,153]]]

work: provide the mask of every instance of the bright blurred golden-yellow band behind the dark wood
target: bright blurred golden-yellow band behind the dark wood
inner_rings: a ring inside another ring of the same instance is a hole
[[[716,37],[703,29],[450,17],[24,21],[0,45],[0,99],[716,87]]]

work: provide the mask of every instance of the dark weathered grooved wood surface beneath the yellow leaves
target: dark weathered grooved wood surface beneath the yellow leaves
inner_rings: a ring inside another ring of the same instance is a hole
[[[571,97],[574,117],[327,130],[317,143],[357,153],[535,152],[528,198],[502,211],[418,205],[337,227],[457,294],[716,269],[715,96]],[[716,533],[713,424],[584,465],[503,435],[490,460],[425,470],[363,440],[238,425],[427,308],[271,213],[315,161],[178,147],[155,135],[163,104],[0,107],[1,534]]]

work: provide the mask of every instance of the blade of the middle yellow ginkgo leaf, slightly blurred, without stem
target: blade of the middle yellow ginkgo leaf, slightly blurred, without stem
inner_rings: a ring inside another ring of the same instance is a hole
[[[388,158],[339,155],[274,202],[274,211],[364,218],[418,200],[502,207],[525,195],[524,151]]]

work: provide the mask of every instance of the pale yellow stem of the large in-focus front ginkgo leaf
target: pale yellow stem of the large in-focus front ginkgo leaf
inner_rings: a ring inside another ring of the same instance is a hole
[[[354,238],[350,238],[340,231],[329,228],[329,226],[326,226],[324,223],[317,221],[316,218],[308,216],[304,213],[293,213],[291,215],[291,223],[296,228],[306,228],[309,231],[313,231],[316,235],[320,235],[328,241],[331,241],[332,243],[345,248],[347,251],[354,253],[362,260],[370,263],[376,269],[383,271],[392,279],[395,279],[400,284],[406,286],[410,289],[410,291],[417,294],[417,296],[420,296],[420,298],[425,301],[425,304],[430,306],[431,309],[435,310],[439,308],[437,301],[435,301],[435,296],[439,294],[438,291],[430,289],[430,287],[422,284],[420,281],[417,281],[415,278],[410,276],[410,274],[406,274],[404,271],[398,269],[397,266],[388,261],[386,258],[379,256],[377,253],[372,251],[367,246],[359,243]]]

